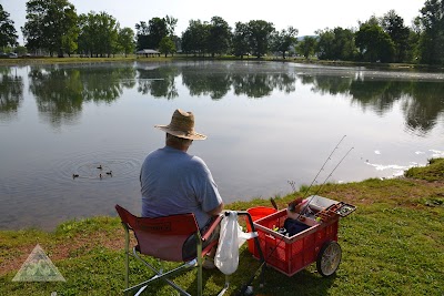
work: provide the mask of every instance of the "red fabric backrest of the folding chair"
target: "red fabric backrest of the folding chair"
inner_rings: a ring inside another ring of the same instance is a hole
[[[194,214],[162,217],[137,217],[115,205],[123,224],[134,232],[139,252],[164,261],[182,262],[182,246],[199,232]]]

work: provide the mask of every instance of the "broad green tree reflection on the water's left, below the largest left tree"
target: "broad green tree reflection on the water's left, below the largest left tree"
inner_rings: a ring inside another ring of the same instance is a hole
[[[111,103],[134,86],[134,69],[32,67],[29,90],[40,115],[53,126],[75,121],[89,101]],[[131,80],[129,80],[131,79]]]

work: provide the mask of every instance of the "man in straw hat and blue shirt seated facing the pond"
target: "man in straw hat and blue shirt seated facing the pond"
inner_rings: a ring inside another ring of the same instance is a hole
[[[180,109],[174,111],[169,125],[154,127],[164,131],[167,140],[165,146],[151,152],[142,164],[142,216],[193,213],[204,233],[212,218],[222,212],[223,202],[206,164],[186,152],[193,140],[206,136],[194,131],[193,113]],[[218,238],[215,234],[206,244]],[[195,255],[195,244],[194,239],[189,239],[184,253]],[[203,267],[214,268],[213,261],[205,259]]]

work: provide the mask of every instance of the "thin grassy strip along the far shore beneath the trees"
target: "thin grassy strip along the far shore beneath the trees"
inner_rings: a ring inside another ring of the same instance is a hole
[[[430,70],[443,71],[442,65],[416,64],[416,63],[372,63],[372,62],[355,62],[355,61],[330,61],[319,59],[305,59],[303,57],[244,57],[243,59],[234,55],[220,55],[220,57],[194,57],[185,54],[175,54],[173,57],[137,57],[129,54],[128,57],[115,55],[110,58],[90,58],[90,57],[64,57],[64,58],[49,58],[49,57],[32,57],[32,58],[17,58],[17,59],[0,59],[0,65],[36,65],[36,64],[63,64],[63,63],[98,63],[98,62],[173,62],[173,61],[274,61],[274,62],[294,62],[306,64],[320,65],[340,65],[340,67],[367,67],[379,69],[392,70]]]

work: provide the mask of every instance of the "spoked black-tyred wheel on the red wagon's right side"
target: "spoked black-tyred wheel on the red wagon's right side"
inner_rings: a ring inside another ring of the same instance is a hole
[[[340,244],[334,241],[324,243],[316,259],[317,272],[322,276],[331,276],[340,266],[341,257],[342,249]]]

